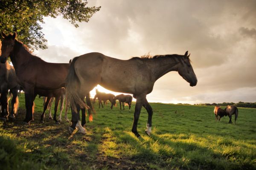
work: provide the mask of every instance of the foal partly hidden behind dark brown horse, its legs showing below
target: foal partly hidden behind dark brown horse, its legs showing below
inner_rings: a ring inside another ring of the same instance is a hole
[[[55,107],[54,107],[54,116],[53,116],[53,120],[55,120],[56,123],[58,123],[59,121],[56,119],[56,115],[57,115],[57,111],[58,111],[58,104],[59,101],[61,100],[61,108],[60,108],[60,115],[64,109],[64,99],[65,99],[65,94],[66,94],[66,90],[65,88],[59,88],[56,90],[35,90],[35,93],[39,93],[41,96],[47,97],[46,98],[46,102],[44,104],[44,111],[41,115],[41,122],[44,122],[44,113],[48,108],[49,102],[51,101],[52,97],[55,98]],[[53,99],[52,99],[53,101]]]

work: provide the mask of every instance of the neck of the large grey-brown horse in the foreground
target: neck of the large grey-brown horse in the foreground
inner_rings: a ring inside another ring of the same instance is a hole
[[[159,57],[154,59],[147,59],[148,65],[151,68],[152,76],[155,80],[170,71],[178,71],[179,61],[175,57]]]

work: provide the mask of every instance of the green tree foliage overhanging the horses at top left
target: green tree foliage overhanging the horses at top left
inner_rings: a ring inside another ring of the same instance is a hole
[[[0,0],[0,30],[6,33],[16,31],[19,40],[30,49],[47,48],[40,23],[44,17],[57,17],[70,21],[88,22],[99,7],[86,7],[87,0]]]

